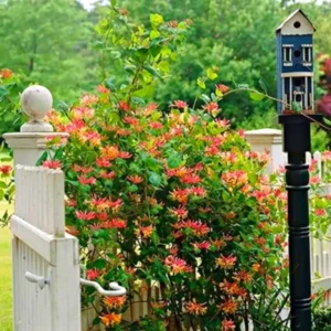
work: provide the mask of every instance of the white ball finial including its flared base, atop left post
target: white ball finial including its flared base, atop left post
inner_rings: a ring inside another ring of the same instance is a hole
[[[52,132],[53,127],[44,121],[52,105],[53,97],[46,87],[32,85],[25,88],[21,95],[21,106],[30,121],[21,127],[21,132]]]

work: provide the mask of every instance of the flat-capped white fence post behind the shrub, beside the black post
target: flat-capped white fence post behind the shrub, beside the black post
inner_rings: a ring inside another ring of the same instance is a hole
[[[258,152],[269,151],[270,162],[266,167],[266,173],[269,174],[285,166],[285,154],[282,152],[281,130],[259,129],[245,131],[245,138],[250,145],[252,150]]]

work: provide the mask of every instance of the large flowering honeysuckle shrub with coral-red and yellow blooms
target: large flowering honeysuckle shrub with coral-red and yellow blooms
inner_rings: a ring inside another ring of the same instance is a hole
[[[79,238],[86,277],[128,289],[125,300],[103,300],[95,323],[235,330],[250,320],[282,330],[282,186],[264,175],[267,156],[252,152],[243,132],[217,117],[226,86],[203,96],[201,109],[174,100],[164,115],[147,102],[188,22],[174,28],[152,14],[148,30],[128,24],[125,13],[113,9],[100,28],[130,65],[125,85],[106,79],[96,95],[53,111],[50,121],[70,138],[50,141],[56,148],[44,162],[65,171],[67,231]],[[137,296],[148,314],[124,317]],[[95,299],[84,289],[83,305]]]

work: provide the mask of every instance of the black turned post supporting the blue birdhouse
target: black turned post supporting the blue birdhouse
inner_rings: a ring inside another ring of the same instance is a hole
[[[320,119],[320,115],[311,118]],[[311,278],[309,242],[309,171],[306,152],[311,150],[310,122],[302,115],[279,115],[284,126],[284,151],[288,153],[288,242],[291,330],[311,331]]]

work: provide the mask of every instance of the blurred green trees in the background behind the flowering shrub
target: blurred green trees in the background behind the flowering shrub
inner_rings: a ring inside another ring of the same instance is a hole
[[[107,1],[94,1],[88,10],[86,2],[0,0],[0,67],[22,73],[23,85],[45,85],[54,95],[55,106],[61,100],[70,104],[83,92],[93,92],[103,79],[120,76],[121,58],[111,49],[105,56],[105,45],[95,29],[106,14],[103,3]],[[199,94],[196,78],[210,66],[220,68],[217,83],[231,87],[247,84],[275,96],[275,29],[297,8],[317,26],[314,53],[331,54],[330,1],[117,0],[117,6],[127,9],[130,20],[142,24],[148,24],[149,14],[156,12],[166,21],[193,21],[181,56],[156,93],[164,110],[173,99],[192,105]],[[17,130],[14,115],[2,109],[0,104],[0,134]],[[222,102],[222,116],[235,128],[277,125],[275,103],[268,99],[256,103],[245,94],[233,94]],[[321,131],[314,139],[316,148],[322,149],[325,140]]]

